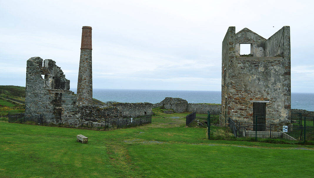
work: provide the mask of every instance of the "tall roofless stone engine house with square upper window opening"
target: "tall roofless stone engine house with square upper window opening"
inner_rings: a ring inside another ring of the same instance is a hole
[[[221,117],[268,122],[269,118],[290,118],[290,27],[284,26],[265,39],[244,28],[229,27],[222,42]],[[241,55],[242,44],[250,54]]]

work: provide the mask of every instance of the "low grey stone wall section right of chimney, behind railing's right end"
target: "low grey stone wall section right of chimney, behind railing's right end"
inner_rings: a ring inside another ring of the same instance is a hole
[[[153,114],[153,104],[151,103],[113,103],[111,105],[117,107],[122,116],[137,117]]]

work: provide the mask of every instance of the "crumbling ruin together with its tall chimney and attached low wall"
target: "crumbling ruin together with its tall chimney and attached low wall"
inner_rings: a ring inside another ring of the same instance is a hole
[[[77,95],[70,91],[70,80],[51,59],[32,57],[26,67],[26,114],[49,114],[61,118],[84,117],[117,119],[151,115],[150,103],[93,104],[92,28],[83,26]]]

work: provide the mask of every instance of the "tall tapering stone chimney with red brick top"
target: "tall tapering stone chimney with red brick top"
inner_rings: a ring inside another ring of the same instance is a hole
[[[83,26],[81,57],[78,69],[77,98],[79,105],[92,104],[93,80],[92,80],[92,28]]]

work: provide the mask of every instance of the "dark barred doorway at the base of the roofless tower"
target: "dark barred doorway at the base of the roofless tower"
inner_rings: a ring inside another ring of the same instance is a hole
[[[266,130],[266,103],[253,103],[253,131]]]

